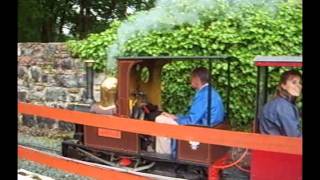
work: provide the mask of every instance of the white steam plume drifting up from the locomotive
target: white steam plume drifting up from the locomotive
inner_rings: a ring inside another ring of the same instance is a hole
[[[147,34],[152,30],[170,29],[182,24],[200,23],[204,12],[213,11],[218,4],[228,5],[225,12],[235,12],[242,6],[261,4],[275,7],[280,0],[157,0],[149,11],[138,12],[124,21],[118,31],[116,41],[107,49],[107,68],[115,68],[115,57],[121,54],[125,43],[137,33]],[[221,8],[221,6],[219,7]]]

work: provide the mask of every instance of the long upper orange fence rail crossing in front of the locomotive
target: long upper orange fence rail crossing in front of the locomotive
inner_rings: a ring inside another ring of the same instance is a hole
[[[18,112],[87,126],[166,136],[186,141],[302,155],[302,138],[271,136],[203,127],[175,126],[155,122],[99,115],[18,103]]]

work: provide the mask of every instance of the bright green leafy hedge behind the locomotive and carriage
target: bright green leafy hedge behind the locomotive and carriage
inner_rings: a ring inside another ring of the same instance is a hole
[[[248,129],[254,119],[257,55],[300,55],[302,53],[301,3],[281,3],[270,11],[250,6],[234,13],[210,11],[201,23],[182,25],[170,30],[137,34],[126,42],[124,56],[205,56],[226,54],[239,61],[231,66],[229,119],[236,129]],[[101,34],[83,41],[71,41],[71,50],[81,58],[98,62],[103,70],[106,48],[115,40],[117,24]],[[204,62],[175,62],[165,66],[162,76],[162,105],[171,113],[186,112],[194,91],[189,85],[191,70],[207,66]],[[213,63],[213,84],[226,101],[227,66]],[[274,90],[279,73],[271,69],[270,90]],[[179,78],[177,78],[179,77]]]

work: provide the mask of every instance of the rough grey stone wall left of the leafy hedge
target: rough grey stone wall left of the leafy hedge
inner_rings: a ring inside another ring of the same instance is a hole
[[[95,74],[94,97],[100,99],[99,85],[105,78]],[[22,102],[68,108],[86,99],[83,61],[71,57],[64,43],[18,43],[18,99]],[[58,127],[45,119],[23,116],[28,125]]]

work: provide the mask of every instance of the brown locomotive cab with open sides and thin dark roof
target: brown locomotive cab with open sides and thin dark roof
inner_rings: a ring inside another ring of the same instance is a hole
[[[149,120],[161,112],[161,70],[167,63],[177,60],[208,60],[209,72],[213,60],[231,60],[231,57],[119,57],[118,86],[116,93],[116,115],[135,120]],[[228,66],[228,70],[229,66]],[[230,71],[228,72],[228,76]],[[228,79],[230,79],[228,77]],[[228,89],[229,98],[229,89]],[[227,109],[229,99],[227,100]],[[194,126],[194,125],[193,125]],[[206,127],[206,126],[205,126]],[[229,129],[227,121],[216,125],[217,129]],[[155,137],[131,132],[116,131],[95,127],[84,127],[84,144],[86,146],[121,153],[140,154],[143,156],[171,159],[165,154],[156,154],[148,150],[155,149]],[[192,148],[188,141],[177,140],[176,160],[191,164],[210,165],[228,151],[228,147],[199,143]]]

